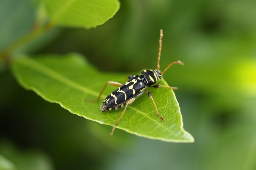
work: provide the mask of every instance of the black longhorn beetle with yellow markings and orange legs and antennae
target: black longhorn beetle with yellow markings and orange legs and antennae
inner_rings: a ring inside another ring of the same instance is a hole
[[[116,125],[124,115],[124,112],[129,104],[134,102],[136,97],[139,97],[143,92],[148,92],[148,97],[152,100],[155,108],[156,108],[156,114],[157,116],[164,121],[164,118],[159,114],[156,103],[151,95],[151,93],[146,90],[147,87],[167,87],[170,89],[178,89],[177,87],[170,87],[167,85],[154,85],[158,80],[161,79],[162,75],[165,73],[165,71],[172,65],[172,64],[180,64],[184,65],[181,61],[175,61],[169,64],[164,71],[160,71],[160,56],[161,56],[161,50],[162,50],[162,37],[163,37],[163,30],[160,30],[160,38],[159,38],[159,50],[158,50],[158,58],[157,58],[157,65],[156,70],[142,70],[140,76],[133,75],[133,76],[127,76],[129,79],[124,85],[121,83],[108,81],[103,89],[100,92],[100,95],[96,101],[100,100],[100,96],[102,95],[103,91],[105,90],[107,85],[114,85],[118,88],[110,93],[107,98],[103,101],[103,104],[100,105],[100,110],[102,112],[105,112],[106,110],[116,110],[118,108],[124,107],[124,111],[116,121],[112,131],[110,132],[110,136],[113,135],[114,130],[116,128]]]

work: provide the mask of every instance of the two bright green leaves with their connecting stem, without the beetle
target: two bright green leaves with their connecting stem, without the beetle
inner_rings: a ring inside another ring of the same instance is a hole
[[[88,29],[101,25],[113,17],[119,5],[117,0],[35,1],[33,29],[4,47],[2,59],[11,58],[11,70],[24,88],[33,90],[47,101],[59,103],[73,114],[113,126],[122,109],[102,113],[100,103],[89,103],[86,99],[95,99],[108,80],[123,82],[124,74],[100,73],[85,62],[83,56],[74,53],[31,56],[26,50],[42,38],[50,39],[49,32],[57,26]],[[167,85],[164,80],[159,83]],[[111,90],[114,89],[108,87],[102,99]],[[151,93],[165,121],[157,117],[152,102],[143,95],[128,107],[117,128],[151,139],[193,142],[193,137],[183,129],[180,107],[173,91],[160,88],[151,90]]]

